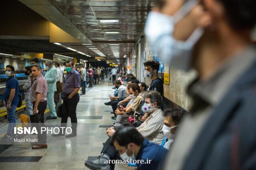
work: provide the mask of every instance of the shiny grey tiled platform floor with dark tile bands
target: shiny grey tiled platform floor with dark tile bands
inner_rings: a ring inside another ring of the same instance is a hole
[[[80,97],[77,106],[78,136],[72,140],[47,136],[47,149],[32,150],[31,145],[0,147],[0,170],[87,170],[84,161],[99,156],[102,143],[108,139],[106,127],[113,125],[108,95],[112,82],[105,79]],[[46,125],[59,125],[61,119],[47,120]],[[70,119],[68,119],[70,122]],[[93,156],[93,157],[91,157]],[[116,165],[115,170],[128,169]]]

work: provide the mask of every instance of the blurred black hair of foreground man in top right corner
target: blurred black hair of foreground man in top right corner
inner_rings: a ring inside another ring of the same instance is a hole
[[[218,0],[230,25],[239,30],[251,30],[256,24],[256,0]]]

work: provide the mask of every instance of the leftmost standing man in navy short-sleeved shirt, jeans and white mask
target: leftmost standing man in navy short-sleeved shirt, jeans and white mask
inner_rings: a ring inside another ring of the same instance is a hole
[[[6,88],[3,92],[4,102],[6,105],[7,119],[9,122],[7,133],[1,138],[1,140],[9,140],[15,136],[13,133],[16,126],[15,112],[19,102],[19,82],[14,77],[15,68],[12,65],[6,65]]]

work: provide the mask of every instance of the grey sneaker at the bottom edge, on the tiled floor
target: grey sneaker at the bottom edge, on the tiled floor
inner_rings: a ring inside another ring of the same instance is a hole
[[[104,156],[99,156],[97,159],[93,161],[85,161],[84,165],[91,170],[110,170],[110,165],[105,164],[105,160],[109,160],[108,158],[105,158]]]

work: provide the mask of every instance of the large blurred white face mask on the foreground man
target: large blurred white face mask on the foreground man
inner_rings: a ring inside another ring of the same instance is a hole
[[[169,63],[171,68],[189,71],[191,67],[193,47],[204,31],[202,28],[196,28],[186,41],[175,40],[173,31],[176,23],[197,4],[198,0],[188,0],[173,16],[154,11],[148,14],[145,25],[148,42],[154,44],[154,50],[160,59]]]

